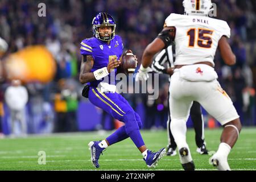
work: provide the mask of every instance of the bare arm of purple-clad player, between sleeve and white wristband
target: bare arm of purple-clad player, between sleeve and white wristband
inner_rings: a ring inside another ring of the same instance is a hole
[[[79,78],[81,84],[85,84],[87,82],[96,80],[94,74],[90,72],[92,70],[93,64],[94,64],[94,60],[92,56],[82,55],[82,63],[81,63],[80,78]]]

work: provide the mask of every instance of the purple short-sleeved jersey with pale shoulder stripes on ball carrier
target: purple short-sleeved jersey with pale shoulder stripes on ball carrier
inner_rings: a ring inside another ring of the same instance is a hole
[[[123,53],[122,39],[120,36],[115,35],[114,39],[110,40],[109,45],[107,42],[99,40],[95,37],[84,39],[81,42],[80,53],[81,55],[90,55],[93,57],[94,64],[90,72],[94,72],[97,69],[107,67],[112,57],[117,57],[117,60],[119,60]],[[111,73],[108,75],[108,83],[115,85],[115,78],[110,78],[110,75],[115,76],[117,69],[115,68],[113,72],[114,74]],[[97,87],[98,84],[103,80],[104,78],[101,80],[92,81],[89,83],[89,85]]]

